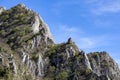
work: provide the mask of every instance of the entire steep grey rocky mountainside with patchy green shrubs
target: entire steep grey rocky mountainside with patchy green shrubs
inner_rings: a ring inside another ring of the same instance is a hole
[[[106,52],[86,54],[69,38],[56,44],[42,18],[24,4],[0,8],[0,80],[120,80]]]

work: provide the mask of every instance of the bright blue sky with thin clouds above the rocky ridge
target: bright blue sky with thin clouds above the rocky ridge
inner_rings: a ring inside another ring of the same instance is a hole
[[[0,6],[19,3],[43,18],[56,43],[72,37],[87,53],[107,51],[120,64],[120,0],[1,0]]]

